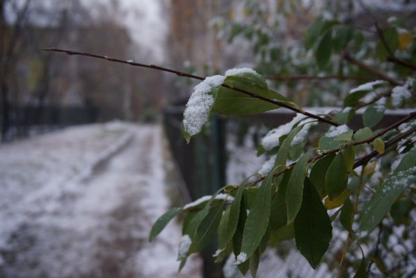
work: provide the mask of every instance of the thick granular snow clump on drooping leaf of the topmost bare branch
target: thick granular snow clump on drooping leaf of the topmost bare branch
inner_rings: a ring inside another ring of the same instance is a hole
[[[193,88],[182,121],[184,131],[189,135],[200,132],[202,125],[208,121],[209,112],[214,105],[214,96],[210,94],[211,89],[222,85],[224,80],[225,76],[209,76]]]

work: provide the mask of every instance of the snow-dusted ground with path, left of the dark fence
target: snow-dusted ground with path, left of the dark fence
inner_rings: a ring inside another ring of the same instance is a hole
[[[0,277],[200,277],[177,273],[180,225],[148,243],[166,195],[162,130],[107,123],[0,146]]]

